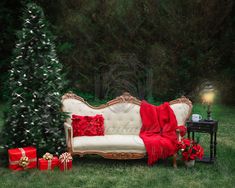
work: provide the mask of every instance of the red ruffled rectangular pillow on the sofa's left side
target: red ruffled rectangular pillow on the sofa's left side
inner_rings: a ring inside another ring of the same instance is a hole
[[[102,115],[72,115],[73,136],[103,136],[104,118]]]

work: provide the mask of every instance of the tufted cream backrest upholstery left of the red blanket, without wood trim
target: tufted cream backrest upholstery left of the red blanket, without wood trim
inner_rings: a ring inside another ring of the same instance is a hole
[[[142,126],[139,114],[139,105],[131,103],[114,104],[104,109],[92,109],[76,99],[67,99],[63,102],[63,110],[70,115],[93,116],[102,114],[104,117],[105,135],[139,135]],[[71,124],[71,119],[68,119]]]

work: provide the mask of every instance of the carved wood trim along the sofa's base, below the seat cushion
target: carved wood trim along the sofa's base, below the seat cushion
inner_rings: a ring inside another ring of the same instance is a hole
[[[127,160],[127,159],[142,159],[146,156],[145,153],[131,153],[131,152],[101,152],[101,151],[80,151],[80,152],[73,152],[73,155],[89,155],[95,154],[100,155],[106,159],[118,159],[118,160]]]

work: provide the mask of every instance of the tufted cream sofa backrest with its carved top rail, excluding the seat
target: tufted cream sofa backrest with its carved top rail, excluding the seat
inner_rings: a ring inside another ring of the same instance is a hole
[[[69,97],[68,97],[69,96]],[[62,99],[63,111],[82,116],[94,116],[102,114],[104,117],[105,135],[139,135],[142,126],[140,117],[140,101],[136,98],[127,102],[119,100],[114,103],[107,103],[100,107],[90,106],[81,97],[74,94],[67,94]],[[175,112],[178,125],[184,125],[191,113],[190,104],[183,100],[172,101],[171,108]],[[67,119],[71,124],[71,118]]]

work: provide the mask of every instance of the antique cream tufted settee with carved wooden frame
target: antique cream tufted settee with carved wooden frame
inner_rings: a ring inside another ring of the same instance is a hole
[[[70,117],[72,114],[82,116],[102,114],[105,127],[104,136],[73,137],[71,118],[67,118],[64,128],[68,152],[80,156],[98,154],[110,159],[140,159],[145,157],[145,146],[139,137],[142,126],[139,113],[140,103],[140,100],[129,93],[124,93],[106,104],[94,107],[73,93],[65,94],[62,97],[62,110],[68,112]],[[182,97],[169,103],[176,115],[178,125],[185,125],[185,121],[191,114],[191,101]]]

